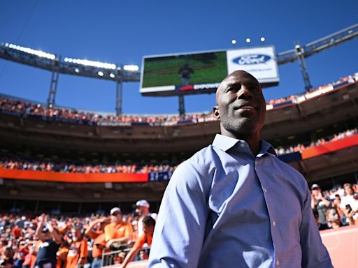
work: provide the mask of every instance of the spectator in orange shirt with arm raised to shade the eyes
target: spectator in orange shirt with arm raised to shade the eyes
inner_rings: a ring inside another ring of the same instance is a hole
[[[106,227],[106,225],[108,225],[108,223],[108,218],[99,218],[95,221],[92,221],[92,223],[90,223],[90,226],[88,226],[87,230],[85,230],[85,234],[91,239],[94,239],[92,247],[93,260],[91,268],[101,267],[102,250],[106,246],[106,234],[104,233],[104,228]],[[97,227],[97,230],[94,230],[95,227]]]

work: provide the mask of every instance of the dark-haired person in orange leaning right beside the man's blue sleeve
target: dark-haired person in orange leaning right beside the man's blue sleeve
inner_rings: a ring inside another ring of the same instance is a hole
[[[152,236],[155,228],[155,220],[151,216],[145,216],[142,220],[143,223],[143,234],[138,237],[131,251],[127,254],[126,258],[122,263],[122,268],[127,267],[134,257],[138,254],[138,251],[146,243],[148,246],[152,244]],[[148,258],[148,256],[146,256]]]

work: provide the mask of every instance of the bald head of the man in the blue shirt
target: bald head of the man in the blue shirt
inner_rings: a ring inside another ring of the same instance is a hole
[[[220,120],[222,135],[259,137],[264,126],[266,103],[262,88],[255,77],[236,70],[222,80],[216,91],[214,116]]]

